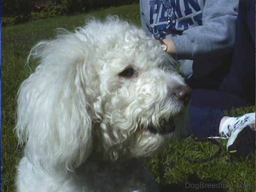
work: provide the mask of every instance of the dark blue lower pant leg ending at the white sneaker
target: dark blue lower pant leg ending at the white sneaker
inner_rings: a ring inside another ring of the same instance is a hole
[[[219,124],[224,112],[218,109],[189,106],[189,135],[197,138],[219,136]]]

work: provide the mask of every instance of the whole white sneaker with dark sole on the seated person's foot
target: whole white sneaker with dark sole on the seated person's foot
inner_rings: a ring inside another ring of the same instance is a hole
[[[234,157],[245,157],[255,152],[255,113],[246,113],[240,117],[230,117],[220,130],[222,137],[229,138],[227,151]]]

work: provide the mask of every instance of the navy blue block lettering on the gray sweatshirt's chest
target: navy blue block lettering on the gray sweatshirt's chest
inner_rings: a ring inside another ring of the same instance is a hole
[[[167,34],[179,35],[190,26],[202,25],[202,10],[197,0],[150,0],[149,6],[149,24],[163,39]],[[168,22],[170,15],[172,22]]]

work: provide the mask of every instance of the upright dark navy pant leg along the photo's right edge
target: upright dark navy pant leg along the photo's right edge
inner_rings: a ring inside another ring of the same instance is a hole
[[[219,88],[255,104],[255,59],[255,0],[240,0],[233,64]]]

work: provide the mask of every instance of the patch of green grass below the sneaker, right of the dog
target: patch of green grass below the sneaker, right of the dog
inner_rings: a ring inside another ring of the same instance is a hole
[[[218,151],[219,147],[212,143],[195,142],[195,139],[189,137],[176,140],[160,155],[151,157],[148,166],[151,167],[159,185],[178,184],[185,187],[186,182],[222,183],[230,186],[225,188],[229,192],[255,191],[254,157],[232,159],[225,150],[227,140],[218,140],[222,152],[218,157],[207,162],[193,163],[191,159],[209,158]],[[246,187],[235,187],[238,184]]]

